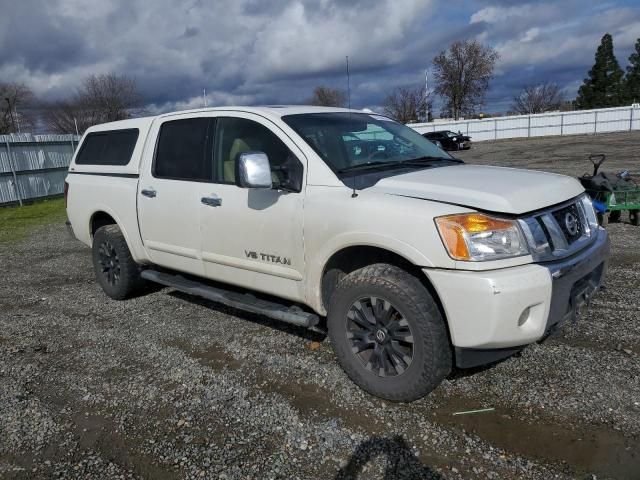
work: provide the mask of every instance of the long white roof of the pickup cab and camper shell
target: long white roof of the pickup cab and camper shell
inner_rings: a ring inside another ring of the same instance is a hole
[[[174,115],[184,115],[189,113],[204,113],[204,112],[248,112],[256,113],[264,117],[283,117],[285,115],[295,115],[300,113],[328,113],[328,112],[352,112],[352,113],[365,113],[362,110],[354,110],[348,108],[338,107],[316,107],[311,105],[265,105],[259,107],[242,107],[242,106],[228,106],[228,107],[211,107],[211,108],[197,108],[192,110],[180,110],[177,112],[162,113],[160,115],[154,115],[149,117],[130,118],[127,120],[118,120],[117,122],[101,123],[99,125],[92,126],[90,132],[99,132],[105,130],[116,130],[126,128],[140,128],[147,129],[153,123],[156,118],[166,118]],[[370,113],[370,112],[367,112]]]

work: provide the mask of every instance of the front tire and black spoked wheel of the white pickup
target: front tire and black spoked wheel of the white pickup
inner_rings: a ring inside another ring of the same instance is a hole
[[[342,279],[327,325],[346,374],[377,397],[417,400],[451,371],[438,306],[418,278],[396,266],[374,264]]]

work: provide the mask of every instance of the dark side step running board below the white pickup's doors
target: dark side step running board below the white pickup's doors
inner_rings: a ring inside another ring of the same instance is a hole
[[[175,288],[181,292],[206,298],[222,303],[229,307],[258,313],[265,317],[282,320],[301,327],[313,327],[318,324],[318,315],[305,312],[298,307],[289,307],[276,302],[261,300],[248,293],[238,293],[222,288],[212,287],[204,283],[189,280],[180,275],[158,272],[157,270],[143,270],[142,278],[152,282]]]

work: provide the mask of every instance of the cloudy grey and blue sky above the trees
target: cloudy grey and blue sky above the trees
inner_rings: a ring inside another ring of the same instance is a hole
[[[476,38],[501,58],[485,111],[505,111],[525,84],[575,96],[605,32],[621,66],[640,37],[629,0],[0,0],[0,81],[45,99],[88,74],[134,77],[151,112],[209,105],[301,103],[315,85],[375,108],[396,86],[422,84],[433,57]]]

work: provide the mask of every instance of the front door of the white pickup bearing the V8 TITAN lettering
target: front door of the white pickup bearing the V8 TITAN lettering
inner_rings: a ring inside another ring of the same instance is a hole
[[[304,156],[278,127],[248,113],[216,118],[214,183],[203,185],[211,204],[201,204],[202,259],[208,277],[293,300],[304,300],[302,191],[285,191],[285,162],[305,167]],[[267,154],[272,189],[235,184],[243,152]],[[302,163],[300,163],[302,162]],[[302,176],[304,178],[304,175]]]

